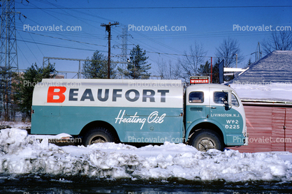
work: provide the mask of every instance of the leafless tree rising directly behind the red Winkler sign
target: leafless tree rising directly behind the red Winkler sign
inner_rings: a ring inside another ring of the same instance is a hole
[[[189,47],[189,53],[184,52],[184,57],[179,61],[183,70],[182,78],[184,80],[189,80],[190,76],[198,74],[198,68],[204,63],[206,54],[203,44],[197,42],[194,43],[194,46],[191,45]]]

